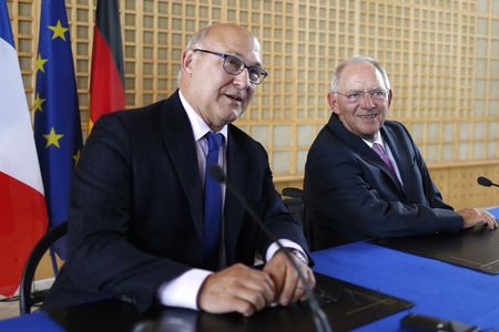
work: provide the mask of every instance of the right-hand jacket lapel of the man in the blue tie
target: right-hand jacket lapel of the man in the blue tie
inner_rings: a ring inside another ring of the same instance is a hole
[[[227,180],[244,198],[246,195],[246,179],[248,175],[248,156],[242,147],[243,142],[233,135],[232,125],[228,126],[227,145]],[[225,193],[225,245],[227,262],[234,262],[234,248],[236,247],[237,234],[243,221],[244,209],[237,199],[228,191]]]

